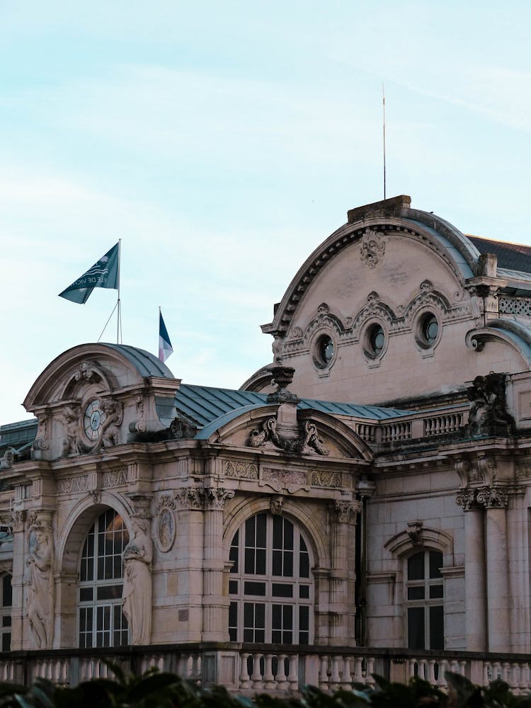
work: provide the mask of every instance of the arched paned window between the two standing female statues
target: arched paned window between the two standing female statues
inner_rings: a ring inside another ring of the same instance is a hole
[[[122,517],[105,511],[89,531],[79,569],[79,646],[128,644],[122,613],[122,552],[129,533]]]

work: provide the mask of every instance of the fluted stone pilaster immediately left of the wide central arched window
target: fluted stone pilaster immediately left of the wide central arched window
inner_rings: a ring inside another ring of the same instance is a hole
[[[202,641],[227,641],[229,598],[224,595],[227,560],[223,555],[223,508],[234,491],[222,487],[205,489]]]

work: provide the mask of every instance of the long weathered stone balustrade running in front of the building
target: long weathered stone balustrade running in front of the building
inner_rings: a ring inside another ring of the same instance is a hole
[[[42,677],[77,685],[112,676],[108,662],[118,664],[126,674],[157,668],[201,685],[222,684],[243,695],[292,695],[303,685],[329,692],[350,690],[353,685],[375,685],[374,674],[400,683],[419,676],[446,690],[447,671],[479,685],[501,678],[515,695],[531,690],[531,660],[523,654],[245,644],[13,651],[0,653],[0,681],[30,684]]]

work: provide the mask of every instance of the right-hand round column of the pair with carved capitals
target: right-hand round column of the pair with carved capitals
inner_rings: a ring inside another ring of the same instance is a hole
[[[501,487],[482,487],[476,494],[476,500],[486,507],[488,651],[510,651],[506,518],[508,494]]]

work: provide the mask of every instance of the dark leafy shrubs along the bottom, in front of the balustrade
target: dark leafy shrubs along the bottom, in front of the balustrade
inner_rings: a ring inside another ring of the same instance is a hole
[[[375,687],[355,684],[353,690],[325,693],[306,686],[300,697],[265,693],[232,695],[222,686],[202,688],[173,673],[148,671],[125,676],[109,664],[115,678],[98,678],[76,687],[38,679],[31,687],[0,684],[0,707],[17,708],[531,708],[531,696],[515,696],[500,680],[480,688],[467,678],[446,673],[448,692],[413,678],[408,685],[375,675]]]

